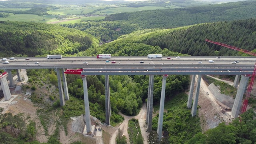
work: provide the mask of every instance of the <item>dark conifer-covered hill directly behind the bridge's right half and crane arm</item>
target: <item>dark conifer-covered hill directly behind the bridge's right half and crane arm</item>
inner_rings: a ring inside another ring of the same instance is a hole
[[[117,40],[104,44],[96,53],[111,53],[118,56],[146,56],[163,54],[177,56],[244,56],[205,39],[226,43],[246,50],[256,49],[256,19],[236,20],[232,22],[215,22],[197,24],[166,30],[141,30],[120,36]],[[87,50],[87,54],[94,50]],[[95,54],[96,54],[95,53]]]

